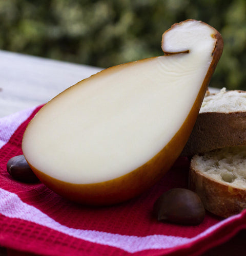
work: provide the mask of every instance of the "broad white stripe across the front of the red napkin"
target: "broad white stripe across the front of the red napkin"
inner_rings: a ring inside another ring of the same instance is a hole
[[[20,198],[9,191],[0,188],[0,213],[10,218],[33,222],[61,233],[83,239],[85,241],[114,246],[128,252],[137,252],[146,249],[163,249],[186,244],[188,238],[171,235],[148,235],[138,237],[134,235],[120,235],[108,232],[69,228],[54,221],[47,214],[24,203]]]

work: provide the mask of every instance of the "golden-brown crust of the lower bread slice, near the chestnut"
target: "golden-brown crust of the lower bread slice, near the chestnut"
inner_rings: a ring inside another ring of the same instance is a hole
[[[196,192],[204,208],[218,216],[229,217],[246,208],[246,190],[204,175],[191,160],[189,188]]]

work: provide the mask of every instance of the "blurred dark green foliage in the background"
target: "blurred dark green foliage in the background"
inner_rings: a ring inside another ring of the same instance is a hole
[[[162,33],[186,19],[223,36],[211,86],[246,90],[244,0],[0,0],[0,49],[109,67],[161,55]]]

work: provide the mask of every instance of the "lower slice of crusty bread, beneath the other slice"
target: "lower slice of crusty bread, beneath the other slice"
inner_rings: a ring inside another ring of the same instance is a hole
[[[228,217],[246,208],[246,146],[223,148],[195,155],[189,188],[208,211]]]

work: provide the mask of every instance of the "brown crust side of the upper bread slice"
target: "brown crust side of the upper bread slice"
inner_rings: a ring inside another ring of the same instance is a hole
[[[200,113],[181,156],[246,144],[246,112]]]

